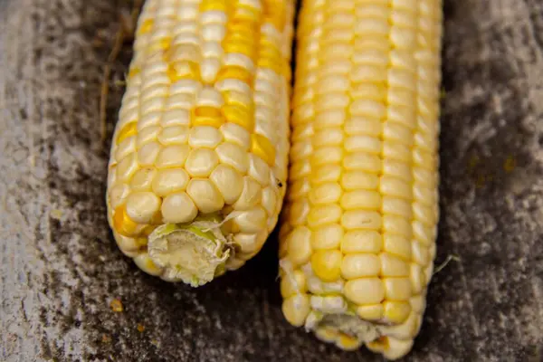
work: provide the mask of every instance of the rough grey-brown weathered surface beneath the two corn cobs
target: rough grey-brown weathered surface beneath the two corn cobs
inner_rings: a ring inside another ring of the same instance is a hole
[[[86,3],[86,5],[85,5]],[[0,360],[373,361],[281,316],[276,242],[199,290],[144,275],[105,217],[101,72],[121,0],[0,0]],[[442,221],[412,361],[543,348],[543,4],[445,1]],[[129,61],[115,64],[116,79]],[[112,81],[114,83],[114,81]],[[113,85],[110,129],[122,89]],[[125,310],[110,310],[120,298]],[[138,331],[138,324],[145,330]]]

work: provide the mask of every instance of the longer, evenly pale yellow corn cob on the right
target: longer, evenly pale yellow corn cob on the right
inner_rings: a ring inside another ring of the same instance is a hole
[[[297,31],[285,318],[339,348],[405,356],[438,219],[441,0],[305,0]]]

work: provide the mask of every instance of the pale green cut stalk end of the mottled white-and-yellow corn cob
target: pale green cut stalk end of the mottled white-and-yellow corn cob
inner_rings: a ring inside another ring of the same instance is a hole
[[[148,256],[162,268],[162,279],[199,287],[224,271],[230,256],[216,221],[163,224],[148,237]]]

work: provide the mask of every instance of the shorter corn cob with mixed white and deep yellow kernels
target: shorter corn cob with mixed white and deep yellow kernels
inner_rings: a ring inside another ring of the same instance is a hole
[[[108,219],[149,274],[205,284],[260,251],[289,151],[292,0],[148,0],[112,140]]]

